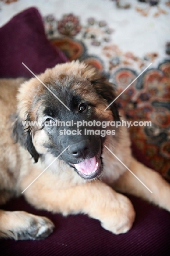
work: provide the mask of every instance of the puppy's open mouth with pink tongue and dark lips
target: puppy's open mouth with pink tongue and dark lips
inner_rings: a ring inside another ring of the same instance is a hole
[[[71,164],[75,167],[75,171],[85,179],[96,178],[102,171],[101,159],[94,156],[90,159],[85,159],[79,164]]]

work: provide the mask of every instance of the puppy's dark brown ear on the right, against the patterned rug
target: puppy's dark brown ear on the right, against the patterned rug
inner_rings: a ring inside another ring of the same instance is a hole
[[[107,78],[102,74],[98,74],[96,78],[92,79],[91,84],[96,89],[99,96],[107,100],[108,105],[115,99],[115,91],[113,85],[108,82]],[[118,106],[113,102],[109,107],[113,113],[115,121],[120,121],[120,116],[118,112]]]

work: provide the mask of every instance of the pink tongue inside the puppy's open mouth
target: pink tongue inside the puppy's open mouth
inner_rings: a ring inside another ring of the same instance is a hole
[[[83,172],[85,174],[91,173],[97,170],[97,161],[96,156],[91,159],[86,159],[84,162],[80,162],[79,164],[75,164],[75,168],[78,171]]]

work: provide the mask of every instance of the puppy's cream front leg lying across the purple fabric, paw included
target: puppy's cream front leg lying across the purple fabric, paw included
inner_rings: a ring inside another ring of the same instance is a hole
[[[40,180],[25,191],[26,199],[36,208],[64,215],[85,213],[101,221],[114,234],[127,232],[134,221],[132,203],[102,182],[86,182],[67,189],[55,189]]]

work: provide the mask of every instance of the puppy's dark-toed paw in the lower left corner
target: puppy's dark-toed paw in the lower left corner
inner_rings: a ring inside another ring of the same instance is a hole
[[[40,240],[51,234],[54,224],[46,217],[35,216],[27,212],[11,212],[11,228],[7,237],[15,240]]]

